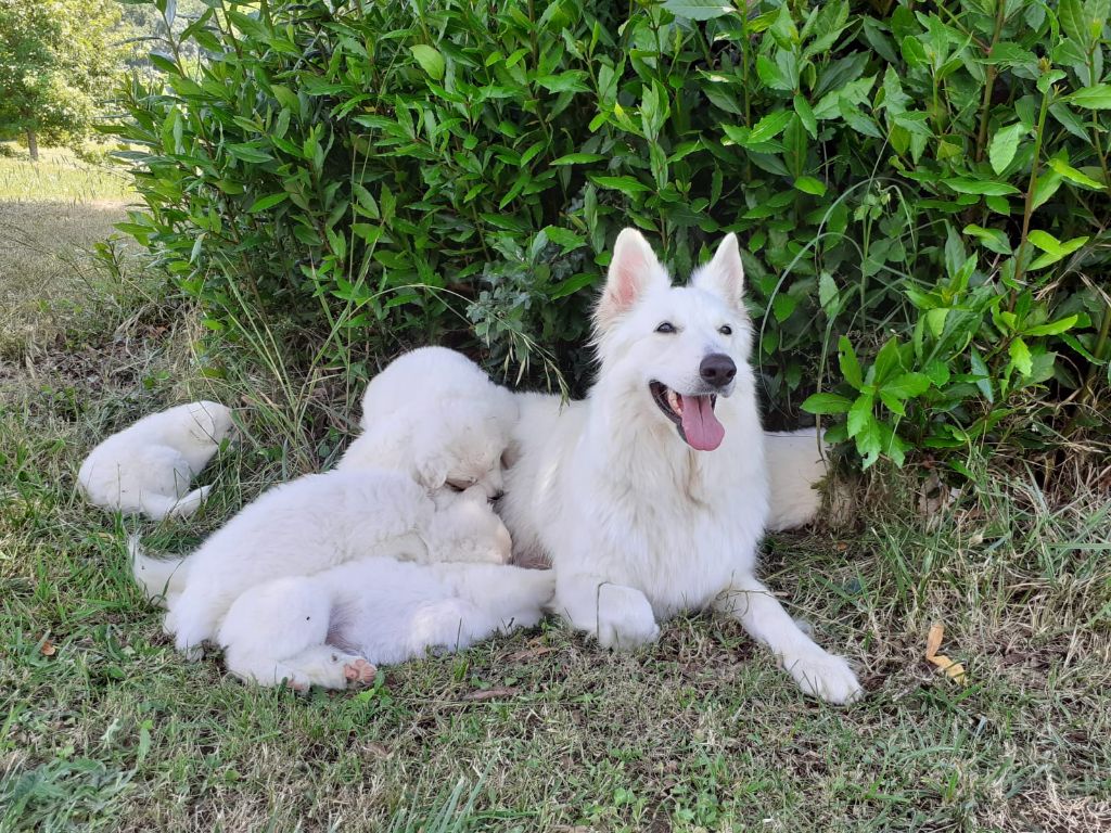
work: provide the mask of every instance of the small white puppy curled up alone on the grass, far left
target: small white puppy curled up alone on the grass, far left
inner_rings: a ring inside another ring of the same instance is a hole
[[[81,463],[78,483],[104,509],[188,518],[212,488],[189,485],[232,428],[231,411],[218,402],[152,413],[97,445]]]

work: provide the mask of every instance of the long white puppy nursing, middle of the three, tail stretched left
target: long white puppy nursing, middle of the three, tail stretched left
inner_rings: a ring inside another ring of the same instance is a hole
[[[504,564],[510,540],[479,486],[433,501],[400,472],[367,469],[274,486],[186,559],[159,562],[137,541],[131,550],[137,581],[164,596],[167,632],[198,656],[232,602],[273,579],[372,556]]]

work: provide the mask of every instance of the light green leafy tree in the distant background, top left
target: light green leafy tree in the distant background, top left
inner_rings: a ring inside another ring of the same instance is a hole
[[[0,0],[0,133],[88,132],[127,51],[113,0]]]

